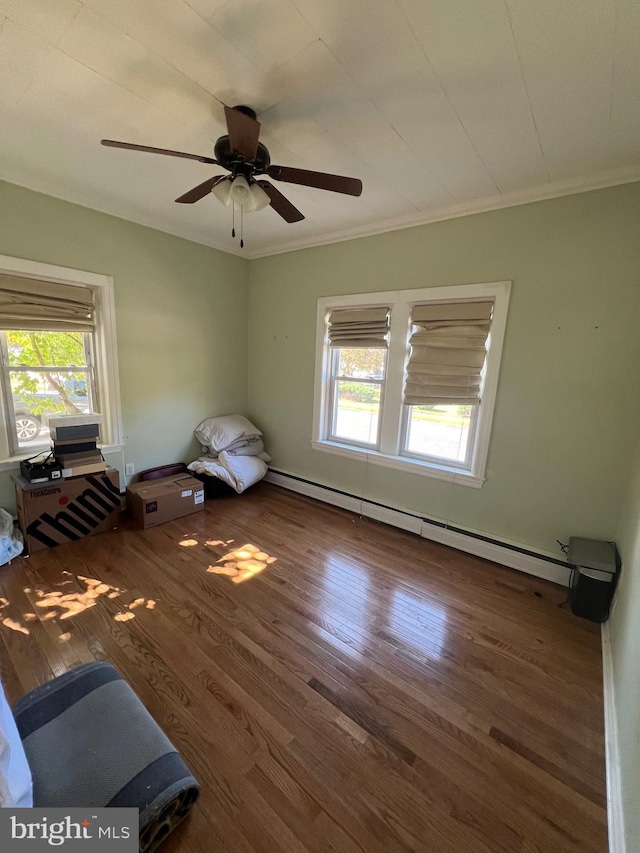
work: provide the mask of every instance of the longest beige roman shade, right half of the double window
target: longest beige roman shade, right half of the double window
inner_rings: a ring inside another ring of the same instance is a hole
[[[492,311],[487,301],[413,306],[407,405],[478,405]]]

